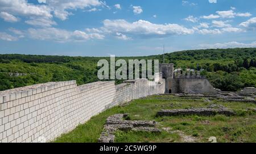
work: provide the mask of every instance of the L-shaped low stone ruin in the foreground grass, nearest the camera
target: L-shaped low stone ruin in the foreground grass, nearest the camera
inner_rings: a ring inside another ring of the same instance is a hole
[[[155,121],[127,121],[123,118],[128,117],[128,114],[115,114],[106,120],[104,131],[101,133],[98,142],[113,143],[115,138],[115,131],[146,131],[146,132],[161,132],[161,130],[154,128]]]

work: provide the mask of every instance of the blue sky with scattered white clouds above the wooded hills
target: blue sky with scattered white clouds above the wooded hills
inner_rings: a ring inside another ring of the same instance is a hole
[[[0,54],[256,47],[255,0],[0,0]]]

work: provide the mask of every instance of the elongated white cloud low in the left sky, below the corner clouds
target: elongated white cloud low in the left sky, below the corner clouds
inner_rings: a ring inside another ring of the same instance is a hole
[[[67,31],[58,28],[30,28],[28,36],[37,40],[52,40],[56,42],[86,41],[89,39],[102,39],[105,36],[98,33],[86,33],[83,31]]]

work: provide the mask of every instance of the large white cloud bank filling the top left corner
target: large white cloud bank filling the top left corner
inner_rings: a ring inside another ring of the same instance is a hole
[[[43,5],[34,5],[27,0],[0,0],[0,11],[12,15],[27,16],[28,18],[52,18],[51,12],[61,19],[66,20],[72,15],[70,10],[84,9],[92,6],[104,6],[106,2],[99,0],[38,0]],[[93,11],[93,10],[92,10]]]

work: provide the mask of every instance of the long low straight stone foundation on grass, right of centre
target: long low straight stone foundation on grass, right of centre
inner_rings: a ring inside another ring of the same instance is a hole
[[[224,114],[224,115],[234,115],[232,110],[228,109],[174,109],[174,110],[160,110],[157,115],[160,117],[163,116],[177,116],[177,115],[216,115],[216,114]]]

